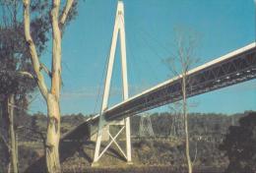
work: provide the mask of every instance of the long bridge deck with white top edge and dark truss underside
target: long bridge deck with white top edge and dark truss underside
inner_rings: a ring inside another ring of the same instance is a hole
[[[192,69],[187,77],[188,97],[255,79],[256,43]],[[181,76],[177,76],[107,109],[104,116],[106,120],[133,116],[178,101],[181,99],[181,93]]]

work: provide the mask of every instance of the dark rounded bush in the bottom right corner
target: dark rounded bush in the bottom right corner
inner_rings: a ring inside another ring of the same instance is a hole
[[[220,149],[229,159],[226,173],[256,172],[256,112],[239,119],[238,126],[230,126]]]

